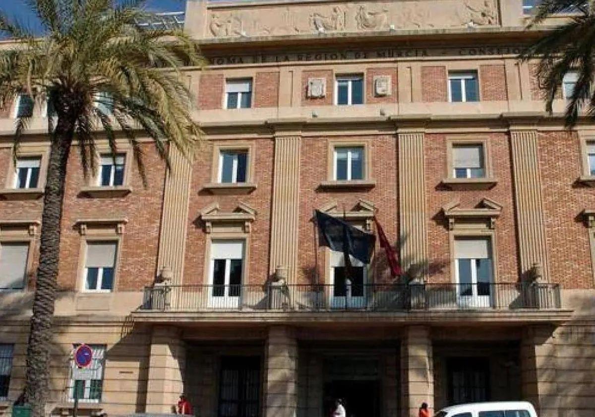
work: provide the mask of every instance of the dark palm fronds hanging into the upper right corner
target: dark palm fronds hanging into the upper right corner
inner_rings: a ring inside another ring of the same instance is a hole
[[[543,0],[528,24],[536,29],[547,17],[557,13],[573,12],[566,23],[546,30],[521,54],[523,60],[537,58],[537,76],[546,91],[546,110],[552,113],[552,102],[569,71],[577,71],[577,83],[566,105],[565,124],[577,123],[583,109],[595,116],[595,8],[593,1]],[[540,28],[541,29],[541,28]]]

